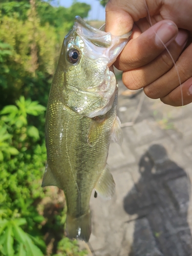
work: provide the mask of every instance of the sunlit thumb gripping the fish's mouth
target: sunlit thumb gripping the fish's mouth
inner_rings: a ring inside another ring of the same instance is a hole
[[[112,35],[124,35],[133,27],[133,18],[120,5],[121,1],[109,1],[106,5],[105,31]],[[122,1],[123,2],[123,1]]]

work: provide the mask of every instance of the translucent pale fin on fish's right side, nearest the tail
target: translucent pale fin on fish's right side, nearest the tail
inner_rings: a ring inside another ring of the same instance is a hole
[[[99,177],[95,190],[101,197],[106,199],[110,199],[114,195],[115,182],[112,174],[110,173],[108,165],[105,166],[101,176]]]

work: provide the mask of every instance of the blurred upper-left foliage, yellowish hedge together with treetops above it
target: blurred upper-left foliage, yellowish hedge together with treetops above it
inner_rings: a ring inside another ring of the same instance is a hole
[[[84,3],[65,8],[37,1],[33,13],[29,1],[0,3],[0,109],[21,94],[47,104],[63,37],[74,17],[84,18],[89,10]]]

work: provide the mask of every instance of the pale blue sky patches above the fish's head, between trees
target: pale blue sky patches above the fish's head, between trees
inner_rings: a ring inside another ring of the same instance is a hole
[[[70,7],[73,0],[60,0],[60,5],[64,7]],[[91,11],[89,12],[88,19],[105,20],[105,9],[99,4],[98,0],[78,0],[78,2],[91,5]]]

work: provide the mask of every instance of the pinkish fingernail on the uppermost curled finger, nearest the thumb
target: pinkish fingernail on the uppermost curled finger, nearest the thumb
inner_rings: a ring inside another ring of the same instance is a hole
[[[163,46],[167,44],[171,39],[175,38],[178,28],[172,23],[163,23],[157,30],[155,42],[157,46]]]

